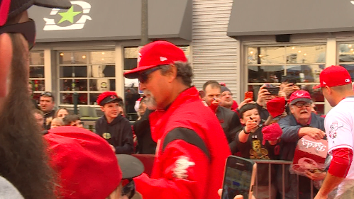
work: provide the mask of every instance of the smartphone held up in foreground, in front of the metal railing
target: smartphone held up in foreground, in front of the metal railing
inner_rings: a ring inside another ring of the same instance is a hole
[[[233,199],[236,195],[243,195],[244,199],[252,198],[255,186],[255,162],[236,156],[226,159],[225,173],[223,174],[223,193],[221,199]]]

